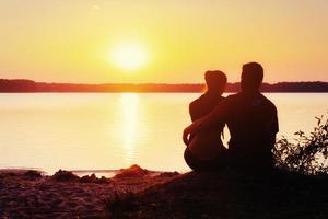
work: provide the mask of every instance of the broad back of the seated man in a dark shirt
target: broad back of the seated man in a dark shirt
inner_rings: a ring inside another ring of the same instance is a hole
[[[231,153],[246,160],[270,158],[278,132],[274,104],[260,93],[241,92],[229,96],[225,105]]]

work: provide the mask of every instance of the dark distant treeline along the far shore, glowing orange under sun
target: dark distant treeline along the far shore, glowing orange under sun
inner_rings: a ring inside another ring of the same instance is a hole
[[[0,79],[0,92],[202,92],[202,83],[46,83],[25,79]],[[227,83],[226,92],[238,92],[239,83]],[[328,92],[328,82],[263,83],[262,92]]]

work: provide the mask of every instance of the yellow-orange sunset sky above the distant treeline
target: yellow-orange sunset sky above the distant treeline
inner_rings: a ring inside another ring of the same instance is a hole
[[[328,81],[327,0],[0,0],[0,78],[56,82]]]

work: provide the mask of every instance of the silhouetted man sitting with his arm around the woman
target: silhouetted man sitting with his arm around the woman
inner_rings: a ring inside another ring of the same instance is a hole
[[[242,92],[230,95],[208,116],[194,122],[184,130],[184,141],[189,135],[216,123],[226,123],[230,164],[239,168],[270,169],[272,148],[278,132],[277,108],[259,92],[263,69],[257,62],[243,66]]]

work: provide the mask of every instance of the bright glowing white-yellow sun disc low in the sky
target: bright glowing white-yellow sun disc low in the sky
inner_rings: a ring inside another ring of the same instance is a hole
[[[110,55],[110,60],[116,67],[129,72],[140,70],[149,61],[147,49],[136,43],[118,45]]]

